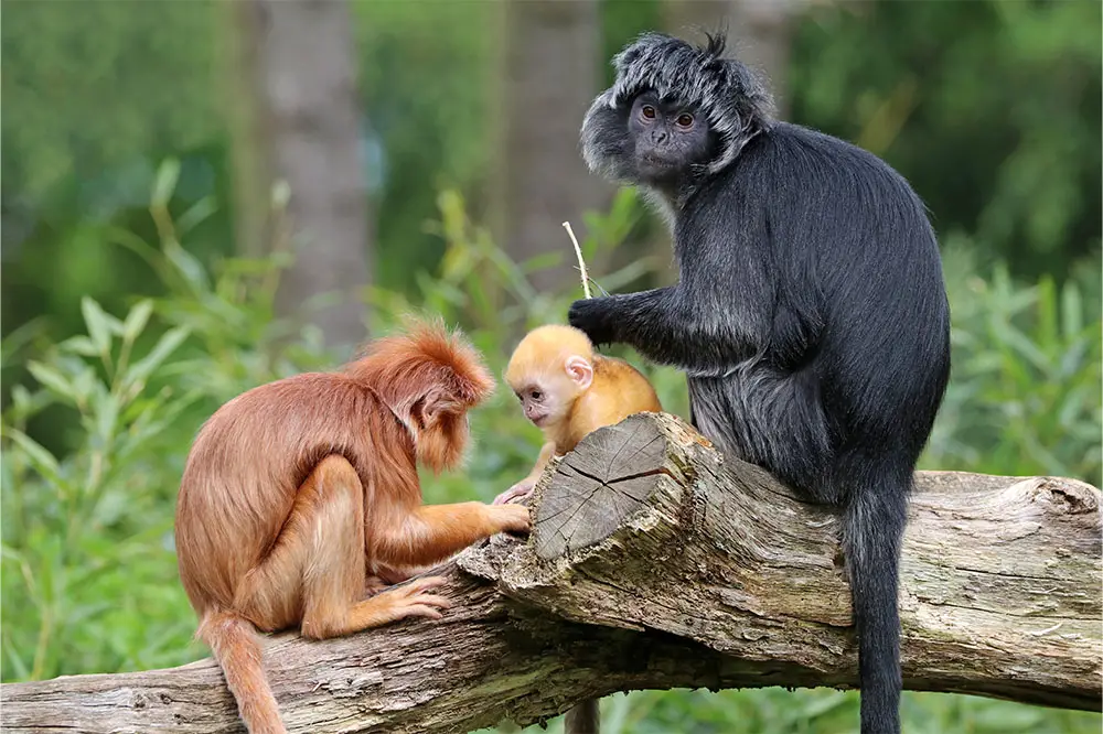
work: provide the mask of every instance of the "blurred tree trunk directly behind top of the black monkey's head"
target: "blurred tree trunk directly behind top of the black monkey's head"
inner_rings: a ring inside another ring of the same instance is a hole
[[[727,25],[728,51],[764,74],[778,105],[788,111],[786,78],[792,18],[802,0],[666,0],[666,29],[687,41]]]

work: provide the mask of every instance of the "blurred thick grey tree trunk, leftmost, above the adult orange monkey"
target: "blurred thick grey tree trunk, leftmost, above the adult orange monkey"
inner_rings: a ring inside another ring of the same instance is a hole
[[[372,229],[360,154],[361,104],[344,0],[236,0],[229,68],[238,251],[289,247],[277,312],[317,325],[328,346],[366,337],[358,298],[372,280]],[[277,237],[272,186],[290,198]],[[310,300],[333,295],[329,305]]]

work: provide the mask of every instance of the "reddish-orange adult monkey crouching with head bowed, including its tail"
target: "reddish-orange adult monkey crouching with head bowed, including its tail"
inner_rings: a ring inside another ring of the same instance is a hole
[[[524,506],[421,504],[417,464],[461,461],[467,411],[493,385],[460,334],[421,323],[342,371],[254,388],[200,430],[176,506],[180,579],[251,734],[286,731],[258,629],[321,639],[440,618],[442,578],[386,585],[528,529]]]

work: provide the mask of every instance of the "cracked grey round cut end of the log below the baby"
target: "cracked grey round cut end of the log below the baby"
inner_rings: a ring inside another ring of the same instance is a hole
[[[665,461],[666,436],[644,413],[587,435],[544,489],[533,528],[536,555],[549,560],[608,538],[651,496]]]

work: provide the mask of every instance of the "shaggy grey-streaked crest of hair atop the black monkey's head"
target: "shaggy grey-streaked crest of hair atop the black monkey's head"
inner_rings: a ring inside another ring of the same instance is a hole
[[[722,35],[706,37],[704,46],[693,46],[664,33],[642,34],[613,56],[617,79],[595,100],[595,107],[623,108],[646,90],[696,107],[721,141],[719,155],[707,165],[707,173],[713,174],[730,164],[751,138],[769,129],[773,98],[749,67],[724,57]],[[602,168],[590,160],[590,153],[583,151],[583,155],[592,169]]]

